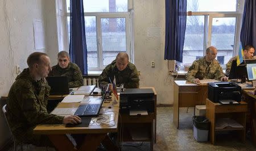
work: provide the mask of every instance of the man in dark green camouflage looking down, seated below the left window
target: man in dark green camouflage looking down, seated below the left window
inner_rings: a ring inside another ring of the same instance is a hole
[[[134,64],[129,62],[129,56],[125,52],[119,52],[115,60],[106,66],[100,77],[98,77],[98,82],[100,85],[107,85],[114,81],[114,77],[117,86],[123,84],[125,88],[139,87],[137,69]]]

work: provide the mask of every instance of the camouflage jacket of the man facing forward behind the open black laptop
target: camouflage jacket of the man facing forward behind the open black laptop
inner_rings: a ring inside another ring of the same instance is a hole
[[[62,69],[59,64],[52,66],[52,71],[49,76],[66,76],[68,77],[69,88],[80,87],[84,85],[84,79],[82,79],[82,73],[79,66],[69,62],[68,67]]]

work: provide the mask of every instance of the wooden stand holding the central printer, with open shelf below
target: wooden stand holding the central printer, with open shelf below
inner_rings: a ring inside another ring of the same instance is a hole
[[[141,89],[151,89],[154,91],[154,112],[148,115],[130,116],[121,114],[121,132],[123,132],[122,141],[150,141],[150,150],[153,150],[153,144],[156,142],[156,91],[154,87],[141,87]],[[131,133],[142,134],[145,139],[133,140]]]

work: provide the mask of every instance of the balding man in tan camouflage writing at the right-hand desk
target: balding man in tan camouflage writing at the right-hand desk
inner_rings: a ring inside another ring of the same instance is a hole
[[[217,55],[217,49],[215,47],[208,47],[206,56],[194,61],[189,67],[186,74],[187,81],[193,83],[200,83],[200,79],[219,79],[226,81],[227,78],[222,72],[220,63],[215,59]]]

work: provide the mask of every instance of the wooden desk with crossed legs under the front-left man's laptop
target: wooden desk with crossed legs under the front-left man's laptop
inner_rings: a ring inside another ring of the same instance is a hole
[[[80,103],[60,103],[57,108],[77,108]],[[96,150],[101,141],[105,139],[107,133],[117,132],[118,130],[118,114],[119,114],[119,100],[112,108],[106,108],[110,104],[102,104],[108,114],[114,113],[114,125],[108,126],[104,124],[92,123],[89,127],[72,127],[67,128],[64,124],[61,125],[38,125],[34,129],[35,134],[47,135],[52,141],[57,150],[75,150],[72,142],[65,135],[69,134],[86,134],[83,144],[78,150]],[[102,109],[101,109],[102,110]]]

